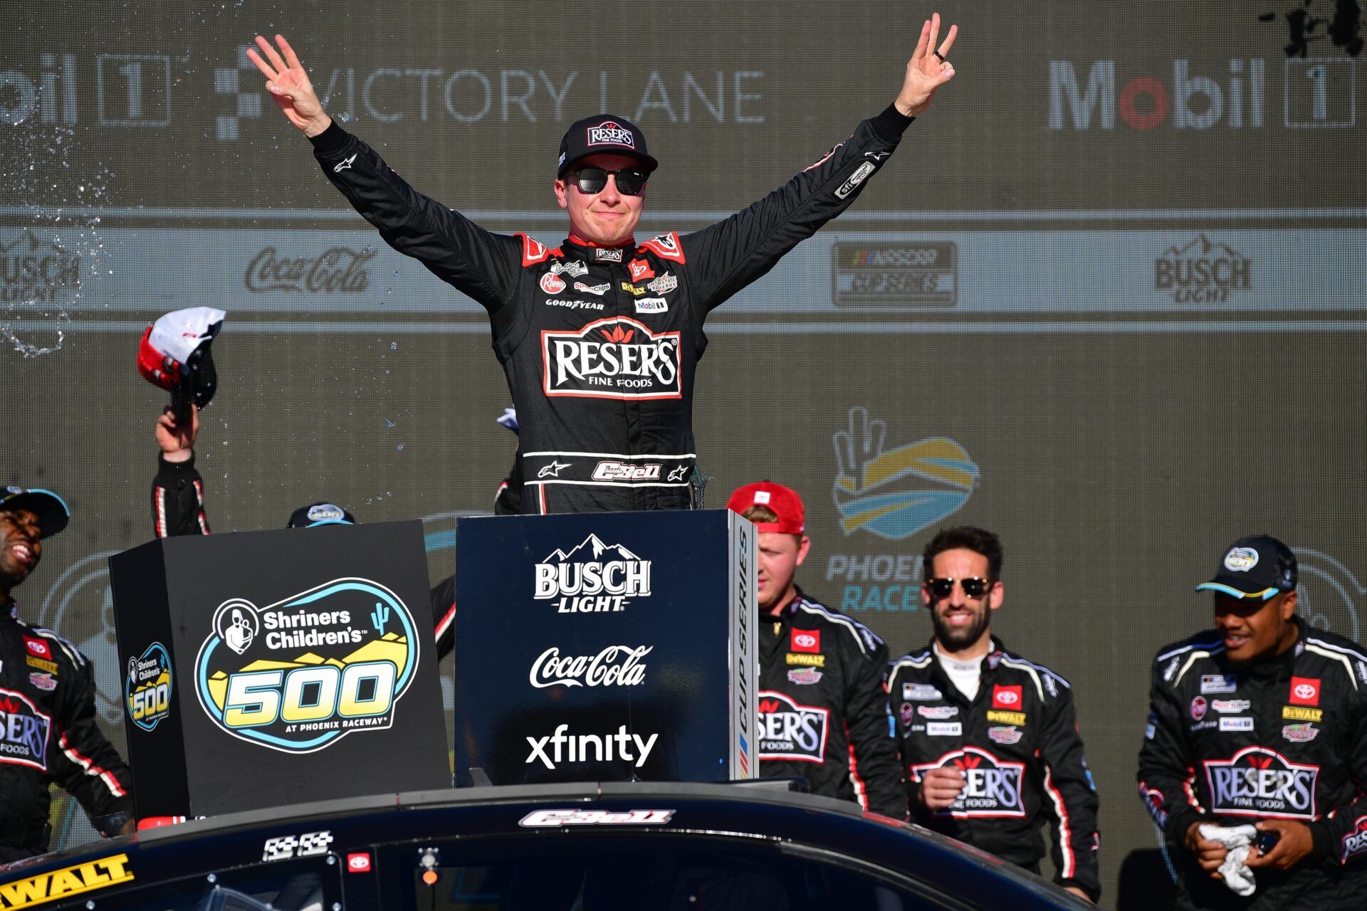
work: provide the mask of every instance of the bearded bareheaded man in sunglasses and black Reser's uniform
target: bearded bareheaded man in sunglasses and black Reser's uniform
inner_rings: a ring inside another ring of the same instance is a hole
[[[991,634],[1006,597],[1001,541],[946,529],[921,560],[935,636],[887,679],[912,819],[1033,873],[1047,819],[1054,881],[1095,901],[1098,800],[1073,692]]]

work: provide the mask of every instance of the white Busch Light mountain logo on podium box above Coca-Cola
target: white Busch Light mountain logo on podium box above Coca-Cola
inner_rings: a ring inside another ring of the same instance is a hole
[[[651,594],[651,561],[596,534],[569,553],[556,549],[536,564],[537,601],[552,601],[558,613],[623,611],[632,598]]]

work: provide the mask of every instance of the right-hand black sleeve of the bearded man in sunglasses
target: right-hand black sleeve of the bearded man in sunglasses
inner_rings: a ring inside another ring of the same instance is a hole
[[[1057,695],[1044,699],[1039,738],[1044,791],[1053,810],[1050,829],[1054,835],[1054,881],[1062,886],[1077,886],[1095,901],[1102,889],[1096,865],[1100,802],[1087,768],[1083,738],[1077,731],[1073,691],[1064,684],[1054,692]]]

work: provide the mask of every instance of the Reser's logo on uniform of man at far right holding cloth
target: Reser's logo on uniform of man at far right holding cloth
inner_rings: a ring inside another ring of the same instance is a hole
[[[1228,815],[1314,819],[1318,765],[1299,765],[1267,747],[1207,759],[1211,810]]]

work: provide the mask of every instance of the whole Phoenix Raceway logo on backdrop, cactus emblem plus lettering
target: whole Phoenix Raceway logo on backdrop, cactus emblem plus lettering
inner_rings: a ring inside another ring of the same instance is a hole
[[[887,423],[867,408],[849,410],[831,436],[835,479],[831,494],[846,537],[867,531],[902,541],[957,512],[977,486],[979,468],[960,444],[928,437],[886,449]],[[920,560],[912,552],[833,553],[826,580],[845,583],[841,611],[916,611]]]

